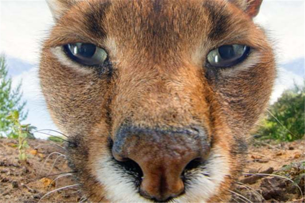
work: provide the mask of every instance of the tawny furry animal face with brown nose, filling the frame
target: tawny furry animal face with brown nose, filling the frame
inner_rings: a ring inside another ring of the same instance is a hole
[[[90,201],[219,202],[274,57],[261,1],[50,1],[41,87]]]

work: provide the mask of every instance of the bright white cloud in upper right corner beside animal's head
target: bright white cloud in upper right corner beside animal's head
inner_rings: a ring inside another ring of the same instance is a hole
[[[304,1],[263,1],[255,22],[268,30],[279,63],[304,57]]]

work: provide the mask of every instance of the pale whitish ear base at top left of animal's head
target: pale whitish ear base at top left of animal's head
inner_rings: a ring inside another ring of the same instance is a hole
[[[47,4],[54,20],[57,21],[75,4],[75,0],[47,0]]]

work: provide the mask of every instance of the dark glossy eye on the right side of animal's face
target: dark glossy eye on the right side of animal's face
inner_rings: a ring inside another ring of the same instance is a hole
[[[209,52],[207,62],[214,67],[230,67],[245,60],[249,52],[246,45],[223,45]]]

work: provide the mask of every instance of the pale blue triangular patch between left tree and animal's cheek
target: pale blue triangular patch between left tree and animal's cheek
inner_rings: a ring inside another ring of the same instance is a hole
[[[24,71],[29,71],[35,66],[34,64],[23,61],[19,58],[6,56],[5,59],[8,67],[8,75],[10,76],[19,75]]]

